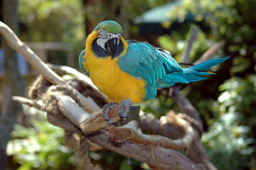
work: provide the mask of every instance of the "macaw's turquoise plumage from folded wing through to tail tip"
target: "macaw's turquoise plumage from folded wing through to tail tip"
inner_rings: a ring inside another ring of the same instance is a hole
[[[131,76],[145,80],[144,99],[155,99],[156,89],[207,79],[200,76],[211,75],[206,70],[229,58],[216,56],[188,68],[181,68],[169,51],[145,42],[129,40],[127,43],[126,54],[119,58],[118,66]]]

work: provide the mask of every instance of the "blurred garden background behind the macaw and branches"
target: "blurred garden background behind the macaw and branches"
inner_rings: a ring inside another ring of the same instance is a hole
[[[231,56],[214,67],[217,75],[193,82],[181,93],[204,122],[204,144],[219,170],[256,169],[256,1],[255,0],[0,0],[0,20],[44,62],[79,68],[86,37],[103,20],[115,20],[126,40],[145,41],[170,51],[179,62],[193,26],[199,28],[189,63],[219,41],[216,55]],[[46,114],[21,106],[12,95],[26,96],[37,72],[20,54],[0,44],[0,169],[76,169],[76,156],[63,145],[64,130]],[[141,104],[157,118],[174,110],[172,99],[157,96]],[[89,153],[103,169],[149,167],[115,152]]]

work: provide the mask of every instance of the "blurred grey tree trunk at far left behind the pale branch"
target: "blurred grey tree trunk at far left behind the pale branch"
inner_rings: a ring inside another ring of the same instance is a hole
[[[18,0],[4,0],[2,11],[4,22],[18,32],[17,20]],[[13,129],[13,124],[16,122],[16,117],[21,110],[21,105],[11,99],[13,95],[23,95],[24,80],[20,76],[17,67],[17,52],[13,50],[2,38],[2,47],[4,49],[4,112],[0,115],[0,169],[4,169],[7,155],[6,146],[10,140],[10,132]]]

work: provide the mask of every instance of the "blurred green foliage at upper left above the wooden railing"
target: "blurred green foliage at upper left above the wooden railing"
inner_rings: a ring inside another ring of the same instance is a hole
[[[76,56],[84,48],[85,25],[82,1],[20,0],[18,13],[21,41],[69,43],[72,44]]]

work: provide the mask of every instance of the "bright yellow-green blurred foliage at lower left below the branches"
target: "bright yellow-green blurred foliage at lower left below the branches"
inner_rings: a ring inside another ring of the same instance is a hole
[[[8,144],[8,154],[20,164],[18,170],[74,169],[74,154],[63,145],[64,130],[47,120],[31,124],[30,128],[15,124]]]

